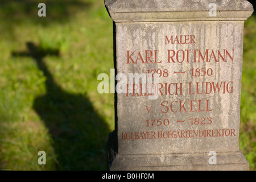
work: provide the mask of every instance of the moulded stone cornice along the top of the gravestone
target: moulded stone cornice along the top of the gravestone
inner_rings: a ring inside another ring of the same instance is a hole
[[[253,13],[248,1],[215,2],[216,16],[209,16],[209,0],[105,0],[114,22],[168,22],[203,20],[246,20]]]

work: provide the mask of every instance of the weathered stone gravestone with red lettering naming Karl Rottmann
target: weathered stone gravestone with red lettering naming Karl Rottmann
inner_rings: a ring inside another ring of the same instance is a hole
[[[243,23],[253,6],[242,0],[105,0],[105,6],[114,24],[117,80],[110,170],[248,170],[239,148],[240,97]]]

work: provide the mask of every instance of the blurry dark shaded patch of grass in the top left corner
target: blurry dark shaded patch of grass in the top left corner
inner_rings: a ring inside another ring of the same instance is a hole
[[[39,3],[46,4],[46,17],[39,17]],[[92,0],[1,0],[0,34],[13,41],[19,39],[16,31],[20,26],[48,27],[67,24],[81,11],[88,11]]]

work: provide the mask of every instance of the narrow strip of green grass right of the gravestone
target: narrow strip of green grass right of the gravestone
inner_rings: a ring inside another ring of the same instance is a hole
[[[255,13],[254,13],[255,14]],[[240,148],[256,169],[256,16],[245,22],[241,93]]]

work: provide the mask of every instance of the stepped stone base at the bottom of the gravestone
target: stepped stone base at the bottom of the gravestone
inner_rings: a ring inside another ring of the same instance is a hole
[[[115,155],[111,171],[248,171],[249,163],[241,151],[217,152],[216,164],[207,153]]]

